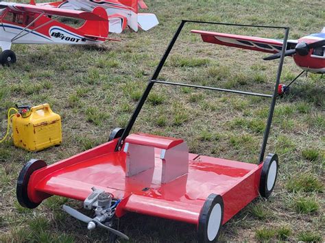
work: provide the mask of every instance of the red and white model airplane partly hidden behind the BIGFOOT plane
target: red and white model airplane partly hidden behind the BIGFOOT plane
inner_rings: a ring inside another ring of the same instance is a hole
[[[117,17],[110,18],[111,33],[121,33],[126,25],[134,31],[138,31],[139,27],[147,31],[159,23],[155,14],[139,13],[139,7],[147,9],[143,0],[64,0],[53,3],[38,3],[38,5],[88,12],[100,6],[106,10],[109,16]]]

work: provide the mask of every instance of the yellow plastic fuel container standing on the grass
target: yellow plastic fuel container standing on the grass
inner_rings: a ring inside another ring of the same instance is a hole
[[[14,146],[27,151],[40,151],[62,142],[61,117],[49,104],[34,106],[25,114],[12,118]]]

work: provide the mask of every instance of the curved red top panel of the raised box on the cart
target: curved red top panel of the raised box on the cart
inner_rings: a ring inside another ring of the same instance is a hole
[[[125,139],[130,144],[138,144],[143,146],[153,146],[157,149],[171,149],[173,146],[184,142],[182,139],[167,138],[146,133],[131,134]]]

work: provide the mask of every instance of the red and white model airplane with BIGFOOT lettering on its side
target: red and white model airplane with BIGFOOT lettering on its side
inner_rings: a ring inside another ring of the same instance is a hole
[[[33,1],[32,1],[33,3]],[[74,28],[56,20],[65,16],[86,20]],[[93,12],[61,10],[32,4],[0,2],[0,63],[10,66],[16,55],[12,44],[99,44],[108,39],[108,14],[104,8]]]

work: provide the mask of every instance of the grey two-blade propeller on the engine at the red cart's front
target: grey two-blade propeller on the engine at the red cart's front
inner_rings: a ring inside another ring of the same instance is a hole
[[[107,229],[108,231],[114,233],[115,235],[118,235],[120,238],[123,238],[125,240],[129,240],[128,236],[121,233],[120,231],[117,231],[115,229],[112,229],[110,227],[107,227],[106,225],[103,225],[99,220],[96,218],[89,218],[88,216],[78,212],[77,210],[73,209],[72,207],[69,207],[67,205],[63,205],[63,210],[73,216],[73,218],[77,218],[77,220],[80,220],[82,222],[86,222],[88,224],[88,229],[95,229],[96,226],[101,227],[103,229]]]

